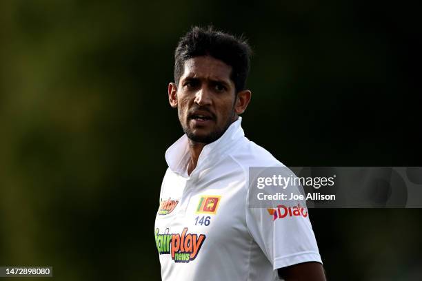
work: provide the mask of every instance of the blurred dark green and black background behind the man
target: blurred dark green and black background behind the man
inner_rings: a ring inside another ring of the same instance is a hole
[[[418,18],[381,1],[0,1],[0,265],[160,280],[163,155],[182,134],[167,85],[191,25],[249,38],[243,127],[285,165],[421,166]],[[421,219],[312,210],[329,280],[422,280]]]

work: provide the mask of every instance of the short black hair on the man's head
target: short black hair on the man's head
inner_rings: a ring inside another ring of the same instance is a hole
[[[181,37],[174,52],[174,82],[179,84],[185,61],[196,56],[212,56],[232,67],[230,79],[236,92],[245,89],[250,70],[252,50],[246,39],[214,30],[212,26],[200,28],[194,26]]]

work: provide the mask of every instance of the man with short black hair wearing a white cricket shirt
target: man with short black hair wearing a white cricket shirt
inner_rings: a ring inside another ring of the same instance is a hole
[[[248,207],[248,167],[283,166],[245,138],[250,47],[192,28],[175,52],[170,105],[185,134],[165,153],[155,242],[163,280],[325,280],[308,216]]]

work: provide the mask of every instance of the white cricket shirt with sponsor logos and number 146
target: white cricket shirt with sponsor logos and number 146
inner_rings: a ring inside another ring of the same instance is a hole
[[[279,280],[281,267],[321,262],[308,210],[275,220],[248,207],[248,168],[282,164],[245,138],[241,117],[203,147],[190,176],[189,158],[185,135],[165,152],[154,229],[163,280]]]

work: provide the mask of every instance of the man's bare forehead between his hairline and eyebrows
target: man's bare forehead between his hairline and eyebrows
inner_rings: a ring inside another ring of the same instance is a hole
[[[197,78],[233,83],[230,74],[232,74],[232,67],[223,61],[214,59],[212,56],[196,56],[185,61],[181,80]]]

